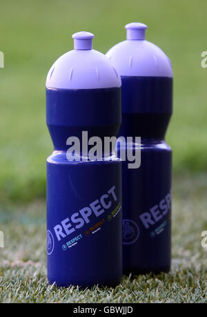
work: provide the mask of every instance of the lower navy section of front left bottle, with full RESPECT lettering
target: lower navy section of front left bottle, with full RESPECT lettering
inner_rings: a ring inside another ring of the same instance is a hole
[[[121,162],[66,161],[61,153],[47,162],[48,280],[115,286],[122,276]]]

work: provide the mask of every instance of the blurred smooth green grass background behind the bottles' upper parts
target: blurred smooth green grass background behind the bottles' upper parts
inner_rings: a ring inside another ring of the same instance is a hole
[[[55,59],[72,49],[72,33],[94,32],[94,48],[105,53],[126,38],[124,25],[130,21],[148,24],[147,39],[172,61],[174,114],[167,141],[174,151],[174,172],[206,171],[207,70],[201,68],[206,10],[205,0],[1,0],[1,201],[45,196],[52,142],[44,87]]]

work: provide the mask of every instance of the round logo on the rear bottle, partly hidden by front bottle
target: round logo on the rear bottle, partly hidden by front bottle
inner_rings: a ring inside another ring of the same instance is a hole
[[[132,244],[139,238],[139,227],[130,219],[123,220],[123,244]]]

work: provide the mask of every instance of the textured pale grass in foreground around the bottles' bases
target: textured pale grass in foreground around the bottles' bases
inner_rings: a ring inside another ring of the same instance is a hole
[[[157,276],[124,276],[115,289],[57,288],[46,279],[46,206],[1,210],[0,302],[207,302],[207,175],[176,177],[172,200],[172,269]]]

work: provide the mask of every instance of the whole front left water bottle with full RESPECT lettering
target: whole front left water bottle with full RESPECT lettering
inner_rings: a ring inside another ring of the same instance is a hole
[[[91,33],[72,37],[75,49],[55,61],[46,81],[54,145],[47,160],[48,280],[115,286],[122,276],[121,161],[88,155],[92,137],[103,142],[119,132],[121,79],[108,58],[92,50]],[[68,152],[75,144],[79,153]]]

